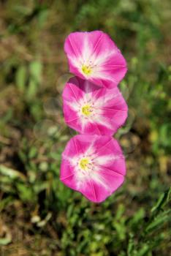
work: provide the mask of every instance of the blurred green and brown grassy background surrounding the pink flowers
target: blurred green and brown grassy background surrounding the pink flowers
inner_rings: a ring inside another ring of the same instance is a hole
[[[0,255],[170,255],[170,17],[169,0],[0,1]],[[96,29],[129,67],[126,182],[102,204],[58,178],[64,39]]]

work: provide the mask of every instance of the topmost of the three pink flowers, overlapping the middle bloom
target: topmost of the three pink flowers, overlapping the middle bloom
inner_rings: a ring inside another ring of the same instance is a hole
[[[98,86],[113,88],[126,74],[126,60],[102,31],[74,32],[66,37],[64,50],[69,70]]]

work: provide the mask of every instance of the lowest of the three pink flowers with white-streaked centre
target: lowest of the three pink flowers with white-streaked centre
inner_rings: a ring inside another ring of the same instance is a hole
[[[61,181],[95,203],[118,189],[125,174],[121,148],[110,136],[76,135],[62,154]]]

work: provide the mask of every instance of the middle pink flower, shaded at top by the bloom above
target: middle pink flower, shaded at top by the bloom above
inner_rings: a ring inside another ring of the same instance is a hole
[[[127,105],[117,87],[97,87],[71,78],[63,91],[66,124],[82,134],[113,135],[127,117]]]

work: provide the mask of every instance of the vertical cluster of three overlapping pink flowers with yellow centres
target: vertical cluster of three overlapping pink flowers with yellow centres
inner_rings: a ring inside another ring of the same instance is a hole
[[[69,34],[64,50],[75,75],[62,94],[64,118],[80,135],[64,149],[60,178],[99,203],[121,186],[126,174],[121,147],[112,138],[128,112],[117,87],[126,74],[126,61],[102,31]]]

